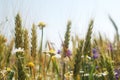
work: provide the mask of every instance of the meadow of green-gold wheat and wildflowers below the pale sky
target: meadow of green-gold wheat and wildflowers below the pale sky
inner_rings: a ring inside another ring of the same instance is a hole
[[[94,19],[89,21],[85,39],[71,36],[72,21],[68,21],[57,50],[56,43],[44,40],[45,22],[33,23],[29,31],[23,27],[18,13],[14,19],[14,37],[7,39],[0,34],[0,80],[120,80],[118,27],[108,18],[116,30],[114,41],[100,33],[98,37],[92,36]],[[37,37],[37,29],[41,37]]]

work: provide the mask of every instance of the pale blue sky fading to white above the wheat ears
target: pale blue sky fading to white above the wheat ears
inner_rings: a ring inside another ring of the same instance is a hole
[[[120,0],[0,0],[0,29],[5,36],[12,36],[14,17],[19,12],[25,28],[30,30],[32,23],[43,21],[46,23],[44,37],[59,43],[59,33],[64,37],[68,20],[72,21],[71,35],[84,38],[90,19],[94,19],[93,36],[101,32],[113,40],[115,30],[108,15],[119,27],[119,8]]]

